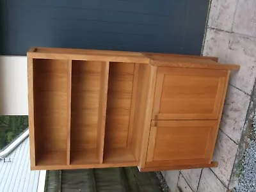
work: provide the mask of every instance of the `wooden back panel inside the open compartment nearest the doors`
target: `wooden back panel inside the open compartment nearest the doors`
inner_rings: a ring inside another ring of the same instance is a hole
[[[105,147],[125,148],[129,133],[134,63],[109,63]]]

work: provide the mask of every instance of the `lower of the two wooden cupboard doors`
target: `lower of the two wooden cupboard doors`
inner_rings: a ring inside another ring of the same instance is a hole
[[[152,121],[145,167],[208,164],[217,133],[217,120]]]

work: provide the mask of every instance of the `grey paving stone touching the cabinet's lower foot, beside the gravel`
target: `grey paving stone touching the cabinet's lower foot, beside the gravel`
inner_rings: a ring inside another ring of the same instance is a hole
[[[219,165],[217,168],[211,169],[225,186],[228,186],[237,148],[238,145],[234,141],[230,140],[225,133],[219,131],[213,155],[214,161],[218,161]]]

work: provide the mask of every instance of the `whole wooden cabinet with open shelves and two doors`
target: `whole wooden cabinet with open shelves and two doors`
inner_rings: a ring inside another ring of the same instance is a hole
[[[31,49],[31,169],[216,166],[230,70],[202,56]]]

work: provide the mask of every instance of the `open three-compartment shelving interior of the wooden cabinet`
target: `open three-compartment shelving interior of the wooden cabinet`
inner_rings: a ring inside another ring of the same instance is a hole
[[[33,59],[35,166],[136,166],[135,63]]]

